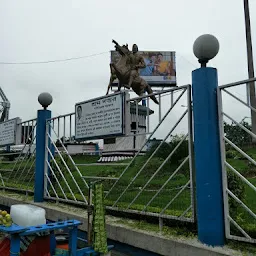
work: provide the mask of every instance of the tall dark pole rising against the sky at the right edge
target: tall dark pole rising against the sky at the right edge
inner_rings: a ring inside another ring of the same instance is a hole
[[[251,22],[250,22],[250,11],[249,2],[244,0],[244,17],[245,17],[245,33],[246,33],[246,46],[247,46],[247,64],[248,64],[248,75],[249,78],[254,78],[254,67],[253,67],[253,53],[252,53],[252,37],[251,37]],[[247,95],[249,93],[250,105],[256,107],[255,98],[255,83],[250,82],[247,84]],[[251,110],[252,117],[252,132],[256,134],[256,113]],[[253,139],[253,142],[256,142]]]

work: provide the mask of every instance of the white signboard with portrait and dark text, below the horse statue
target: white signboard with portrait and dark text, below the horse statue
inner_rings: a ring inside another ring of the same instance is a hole
[[[77,103],[76,139],[104,138],[124,134],[125,93]]]

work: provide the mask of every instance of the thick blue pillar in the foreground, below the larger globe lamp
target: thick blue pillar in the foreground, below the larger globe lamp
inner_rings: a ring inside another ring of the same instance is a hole
[[[192,72],[198,237],[210,246],[225,242],[217,86],[215,68]]]

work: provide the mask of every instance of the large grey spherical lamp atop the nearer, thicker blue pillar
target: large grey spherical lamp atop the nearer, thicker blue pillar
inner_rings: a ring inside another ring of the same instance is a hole
[[[218,54],[219,49],[218,39],[210,34],[199,36],[193,45],[193,52],[202,67],[206,67],[206,63]]]

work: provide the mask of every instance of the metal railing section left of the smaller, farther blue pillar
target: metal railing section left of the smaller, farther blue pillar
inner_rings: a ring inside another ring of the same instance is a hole
[[[23,121],[21,144],[3,147],[0,153],[1,188],[34,193],[36,119]]]

